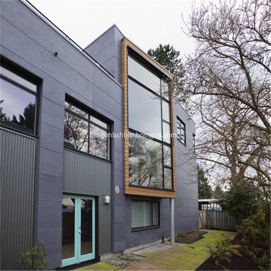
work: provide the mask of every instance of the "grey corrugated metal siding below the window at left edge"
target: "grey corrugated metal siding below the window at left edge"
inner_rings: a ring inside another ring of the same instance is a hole
[[[33,245],[36,139],[0,129],[1,270]]]

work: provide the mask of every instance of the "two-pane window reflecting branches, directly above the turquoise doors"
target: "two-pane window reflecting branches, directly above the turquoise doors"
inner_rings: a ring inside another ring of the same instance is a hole
[[[109,157],[109,125],[87,110],[65,102],[64,146],[95,155]]]

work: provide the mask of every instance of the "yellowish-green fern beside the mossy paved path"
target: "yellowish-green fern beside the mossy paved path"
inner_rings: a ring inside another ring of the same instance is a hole
[[[216,234],[216,238],[216,248],[212,248],[210,244],[207,244],[208,252],[215,259],[216,265],[218,265],[222,260],[227,260],[228,262],[230,262],[230,258],[233,255],[241,256],[238,251],[238,248],[240,248],[240,246],[233,245],[231,243],[233,237],[226,237],[225,234],[222,233],[221,237]]]

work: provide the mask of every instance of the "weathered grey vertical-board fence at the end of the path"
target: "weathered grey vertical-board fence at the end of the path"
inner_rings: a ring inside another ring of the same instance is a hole
[[[235,226],[242,224],[242,217],[231,216],[226,211],[207,211],[207,228],[235,230]]]

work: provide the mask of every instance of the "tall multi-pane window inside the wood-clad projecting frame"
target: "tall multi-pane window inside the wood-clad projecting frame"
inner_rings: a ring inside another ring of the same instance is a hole
[[[172,190],[168,83],[128,56],[129,185]]]

